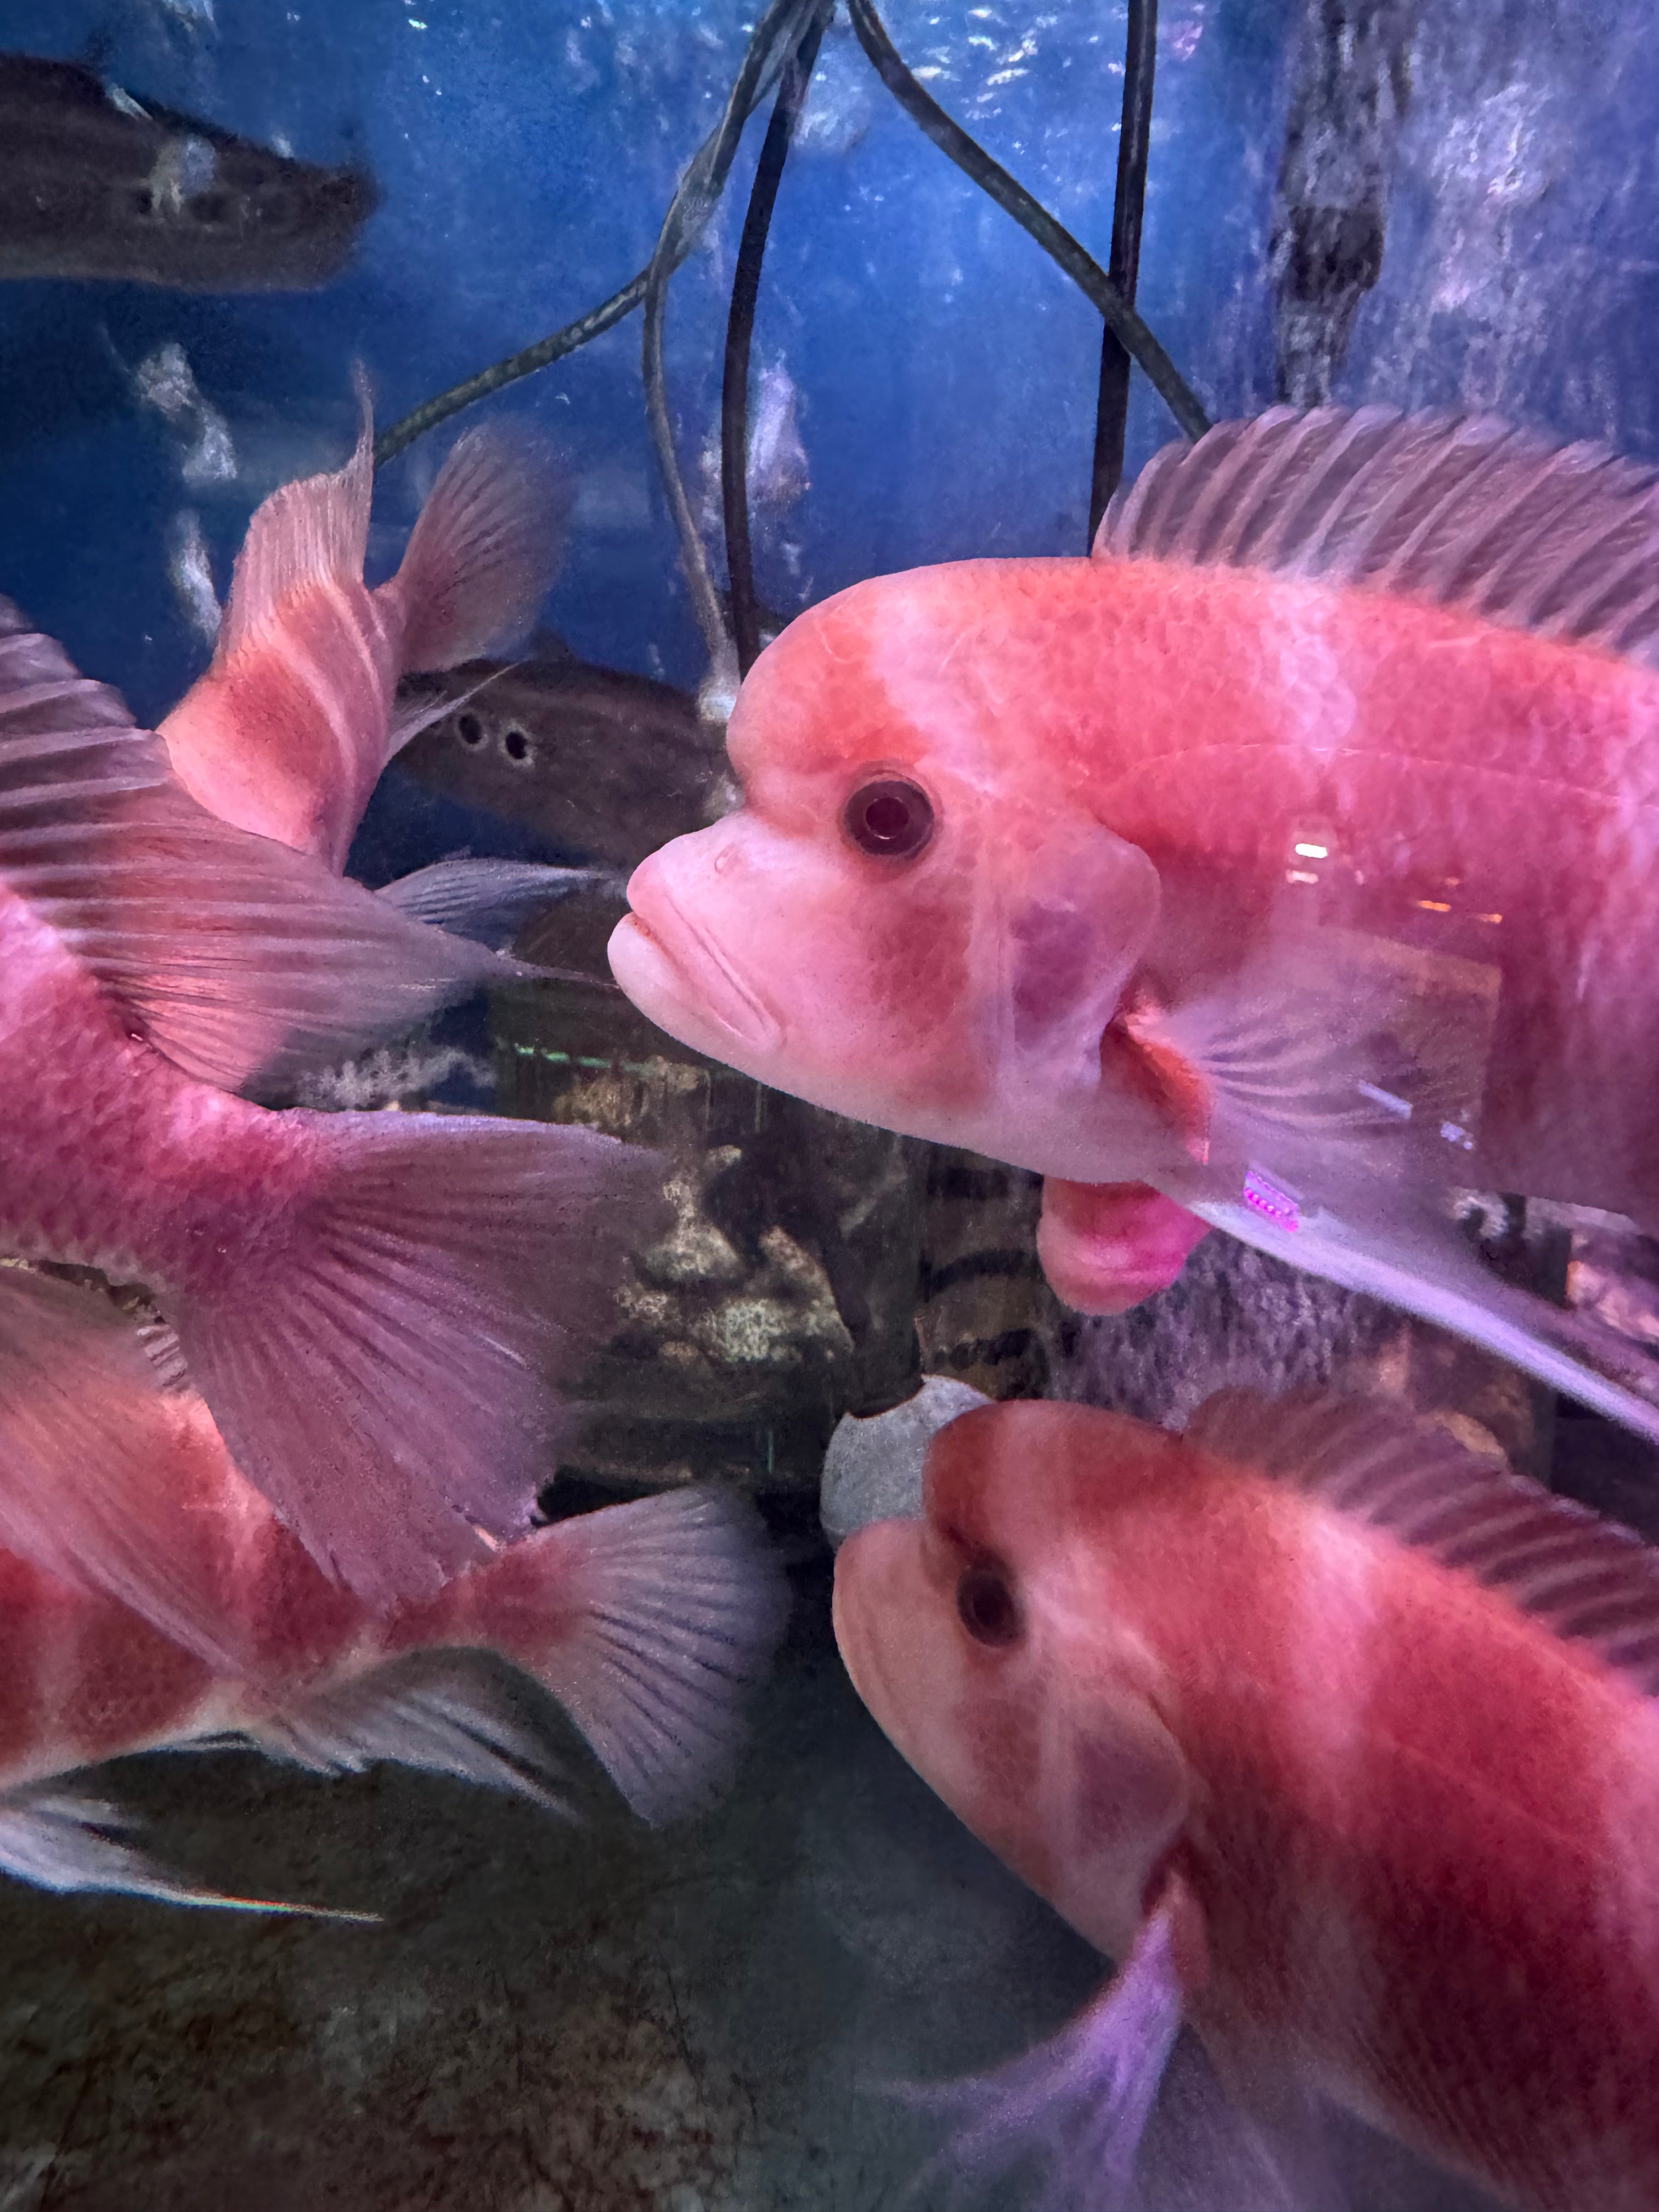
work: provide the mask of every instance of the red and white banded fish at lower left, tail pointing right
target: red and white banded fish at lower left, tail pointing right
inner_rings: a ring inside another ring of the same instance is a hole
[[[40,1276],[15,1292],[42,1365],[13,1365],[9,1387],[69,1391],[91,1427],[122,1431],[131,1504],[166,1533],[177,1582],[221,1621],[237,1666],[0,1553],[0,1869],[51,1889],[248,1902],[177,1882],[75,1785],[95,1761],[201,1741],[325,1772],[394,1759],[557,1809],[571,1776],[533,1692],[478,1652],[551,1690],[648,1820],[721,1783],[743,1690],[783,1624],[781,1575],[734,1498],[666,1491],[535,1528],[434,1597],[378,1610],[314,1566],[195,1394],[150,1374],[135,1385],[135,1332],[95,1294]]]

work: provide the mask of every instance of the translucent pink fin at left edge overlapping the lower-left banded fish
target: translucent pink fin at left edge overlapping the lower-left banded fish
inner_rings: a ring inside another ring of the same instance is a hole
[[[188,1486],[157,1484],[170,1447],[142,1332],[95,1290],[0,1267],[0,1546],[241,1674]]]

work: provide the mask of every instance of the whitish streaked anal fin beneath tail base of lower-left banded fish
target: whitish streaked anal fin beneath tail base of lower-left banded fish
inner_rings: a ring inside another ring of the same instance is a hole
[[[451,1774],[573,1816],[577,1747],[562,1743],[546,1714],[478,1652],[389,1659],[223,1741],[252,1743],[316,1774],[361,1774],[380,1763]]]

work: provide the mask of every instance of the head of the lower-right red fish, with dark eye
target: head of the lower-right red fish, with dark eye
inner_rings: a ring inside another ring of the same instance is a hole
[[[880,1730],[1113,1955],[1188,1809],[1157,1666],[1115,1619],[1110,1564],[1115,1500],[1170,1451],[1177,1438],[1121,1416],[978,1407],[933,1438],[920,1517],[872,1522],[836,1553],[836,1644]]]

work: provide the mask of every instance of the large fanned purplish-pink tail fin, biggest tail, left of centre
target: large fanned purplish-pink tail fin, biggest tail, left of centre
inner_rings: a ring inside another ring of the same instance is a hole
[[[299,1119],[299,1117],[294,1117]],[[588,1128],[305,1115],[283,1225],[168,1318],[243,1475],[383,1606],[529,1526],[661,1164]]]

